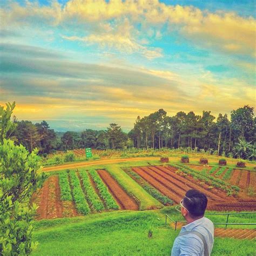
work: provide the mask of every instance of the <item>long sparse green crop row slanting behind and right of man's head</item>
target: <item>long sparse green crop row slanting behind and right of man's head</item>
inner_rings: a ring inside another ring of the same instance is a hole
[[[173,164],[172,166],[180,169],[184,173],[191,174],[194,178],[205,181],[208,185],[212,185],[214,187],[221,188],[222,190],[225,190],[227,192],[228,196],[230,196],[231,194],[235,194],[240,190],[240,188],[237,186],[230,187],[230,185],[225,183],[225,181],[218,179],[218,178],[214,178],[207,173],[197,172],[188,166],[181,165],[181,164],[177,164],[177,165]]]

